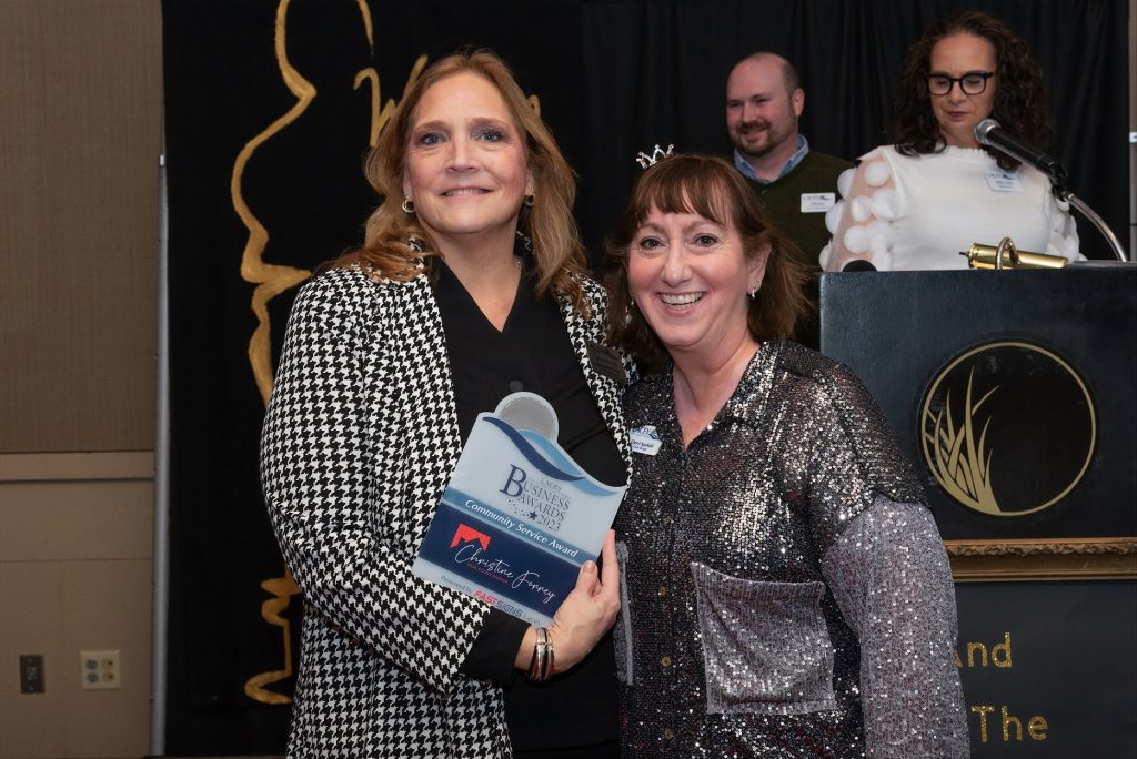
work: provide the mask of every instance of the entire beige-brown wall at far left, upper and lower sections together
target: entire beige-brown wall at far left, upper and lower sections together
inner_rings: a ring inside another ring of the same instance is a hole
[[[160,115],[158,0],[0,0],[0,759],[149,752]]]

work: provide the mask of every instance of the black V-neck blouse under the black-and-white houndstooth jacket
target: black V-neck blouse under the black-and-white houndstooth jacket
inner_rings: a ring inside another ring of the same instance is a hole
[[[432,264],[463,442],[479,414],[492,411],[509,393],[533,392],[556,410],[561,447],[600,482],[625,484],[620,451],[588,389],[554,299],[538,299],[526,272],[498,332],[445,262],[434,259]],[[460,667],[472,677],[504,687],[514,749],[589,745],[617,737],[612,634],[570,672],[534,685],[517,677],[514,668],[526,629],[528,623],[491,611]]]

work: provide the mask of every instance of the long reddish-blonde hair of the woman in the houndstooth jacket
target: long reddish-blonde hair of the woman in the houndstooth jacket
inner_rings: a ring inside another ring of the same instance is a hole
[[[441,58],[410,84],[364,162],[364,174],[382,195],[382,203],[367,219],[364,245],[333,266],[358,264],[380,277],[406,282],[422,270],[423,259],[446,255],[438,250],[418,217],[402,210],[402,181],[418,102],[432,85],[462,73],[476,74],[497,87],[524,139],[533,175],[533,206],[521,209],[517,226],[533,243],[538,294],[551,289],[579,310],[586,310],[580,278],[588,257],[572,215],[576,175],[509,67],[497,53],[484,49]],[[422,241],[425,250],[413,250],[410,239]]]

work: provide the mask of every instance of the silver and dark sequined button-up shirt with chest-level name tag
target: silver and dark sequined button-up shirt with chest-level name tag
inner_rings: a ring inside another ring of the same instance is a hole
[[[616,524],[624,756],[966,756],[951,570],[868,391],[771,341],[686,451],[673,399],[624,397],[659,440]]]

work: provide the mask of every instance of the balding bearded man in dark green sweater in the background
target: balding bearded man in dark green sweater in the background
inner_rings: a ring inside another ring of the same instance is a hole
[[[829,242],[825,211],[838,200],[837,176],[853,164],[810,150],[797,131],[805,107],[797,69],[772,52],[738,61],[727,80],[727,131],[735,166],[754,186],[770,220],[818,270]]]

